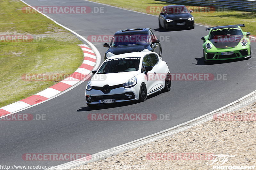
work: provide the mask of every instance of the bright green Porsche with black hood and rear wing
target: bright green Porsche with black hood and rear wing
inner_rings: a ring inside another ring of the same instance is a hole
[[[201,38],[204,62],[251,58],[251,33],[243,32],[241,26],[244,24],[206,28],[210,32]]]

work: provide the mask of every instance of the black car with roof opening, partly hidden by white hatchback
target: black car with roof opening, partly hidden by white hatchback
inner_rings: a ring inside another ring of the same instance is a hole
[[[105,60],[113,55],[138,51],[153,51],[162,57],[160,41],[152,32],[151,28],[135,28],[117,31],[110,45],[105,43],[103,47],[108,48],[108,51],[105,53]]]

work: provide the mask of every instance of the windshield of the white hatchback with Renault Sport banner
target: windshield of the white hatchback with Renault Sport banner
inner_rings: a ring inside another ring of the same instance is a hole
[[[138,71],[139,65],[140,57],[108,59],[102,64],[98,74]]]

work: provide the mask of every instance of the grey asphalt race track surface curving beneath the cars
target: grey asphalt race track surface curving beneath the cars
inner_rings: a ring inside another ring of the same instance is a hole
[[[84,0],[25,0],[32,6],[98,6],[105,13],[46,14],[87,38],[88,35],[113,35],[128,28],[150,27],[162,41],[163,60],[172,73],[227,74],[227,80],[172,81],[170,92],[149,96],[145,102],[100,105],[93,110],[85,103],[85,85],[19,113],[45,114],[44,121],[1,121],[1,165],[59,165],[68,161],[24,161],[24,153],[97,153],[189,121],[255,90],[256,43],[249,60],[204,64],[201,37],[208,32],[195,25],[193,30],[164,32],[157,17],[104,6]],[[26,6],[26,5],[24,5]],[[28,14],[33,15],[33,14]],[[192,13],[193,15],[193,13]],[[196,18],[195,18],[196,21]],[[237,23],[243,24],[243,23]],[[246,27],[243,28],[246,31]],[[92,42],[100,51],[104,42]],[[254,62],[254,63],[252,63]],[[249,69],[251,68],[251,69]],[[170,114],[170,120],[88,121],[90,113]]]

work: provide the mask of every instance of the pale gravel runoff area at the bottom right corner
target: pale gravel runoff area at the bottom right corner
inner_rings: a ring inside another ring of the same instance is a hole
[[[256,103],[79,170],[256,169]],[[213,154],[213,155],[211,155]],[[75,170],[75,169],[73,169]]]

